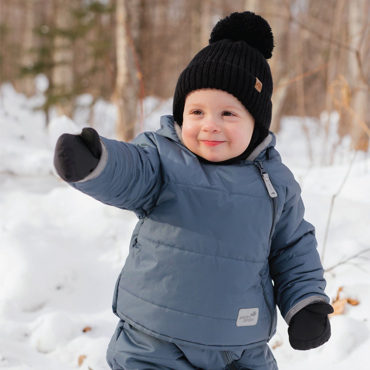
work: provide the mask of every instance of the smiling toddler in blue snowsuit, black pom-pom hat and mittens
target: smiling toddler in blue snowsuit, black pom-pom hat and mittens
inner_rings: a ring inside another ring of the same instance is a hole
[[[329,340],[315,229],[269,131],[273,46],[265,19],[232,13],[181,73],[158,131],[58,139],[61,178],[139,219],[114,289],[111,369],[276,370],[276,306],[294,349]]]

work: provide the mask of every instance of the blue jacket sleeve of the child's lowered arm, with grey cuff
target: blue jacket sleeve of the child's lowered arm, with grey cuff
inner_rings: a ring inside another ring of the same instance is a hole
[[[269,253],[275,300],[288,325],[303,307],[316,301],[330,301],[324,293],[326,281],[316,249],[315,228],[303,218],[305,207],[301,189],[294,178],[293,182],[287,190]],[[292,190],[293,195],[289,194]]]

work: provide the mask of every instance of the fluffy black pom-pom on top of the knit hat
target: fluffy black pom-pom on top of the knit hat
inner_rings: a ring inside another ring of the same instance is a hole
[[[251,11],[231,13],[216,23],[209,43],[225,38],[232,41],[245,41],[249,46],[256,48],[266,59],[272,57],[274,37],[271,27],[265,19]]]

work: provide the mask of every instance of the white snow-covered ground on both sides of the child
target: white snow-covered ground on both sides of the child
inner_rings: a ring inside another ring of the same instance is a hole
[[[52,112],[46,129],[44,114],[33,111],[43,102],[45,81],[39,76],[36,82],[38,93],[30,99],[1,86],[1,369],[108,369],[105,351],[118,321],[111,312],[113,289],[137,218],[54,173],[56,139],[87,126],[91,97],[81,95],[73,121]],[[148,97],[145,111],[144,127],[155,131],[159,117],[171,114],[172,100]],[[111,104],[97,102],[94,128],[114,138],[114,116]],[[350,171],[334,199],[323,265],[331,299],[343,287],[339,297],[359,304],[347,303],[343,314],[331,317],[331,339],[310,351],[290,347],[279,315],[269,345],[280,370],[368,368],[370,264],[363,257],[369,253],[330,268],[369,248],[370,159],[350,151],[349,138],[339,143],[337,118],[336,112],[320,117],[329,122],[327,139],[319,121],[286,117],[276,148],[301,184],[320,255],[333,195]]]

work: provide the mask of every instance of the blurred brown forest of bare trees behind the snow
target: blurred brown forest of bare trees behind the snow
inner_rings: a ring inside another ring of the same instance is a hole
[[[340,137],[367,150],[370,137],[369,0],[1,0],[0,79],[34,94],[49,80],[46,113],[71,117],[91,94],[117,107],[117,137],[131,141],[146,96],[173,96],[177,79],[234,11],[264,17],[275,38],[269,60],[272,131],[283,115],[340,114]],[[91,110],[91,122],[93,111]],[[168,112],[172,114],[172,112]],[[328,122],[323,122],[326,132]]]

